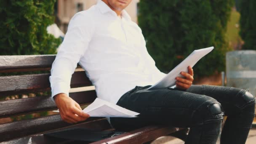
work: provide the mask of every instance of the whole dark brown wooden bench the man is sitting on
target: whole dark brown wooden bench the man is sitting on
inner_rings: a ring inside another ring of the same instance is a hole
[[[22,56],[0,56],[0,74],[11,72],[47,72],[27,75],[0,76],[0,121],[1,118],[25,115],[57,109],[51,100],[51,95],[35,96],[20,99],[3,99],[5,96],[12,96],[24,93],[37,93],[51,91],[49,76],[51,65],[56,55],[22,55]],[[85,72],[77,66],[72,75],[71,88],[91,86],[91,81],[86,77]],[[69,94],[72,99],[81,106],[90,104],[96,99],[96,92],[79,91]],[[65,143],[75,142],[67,139],[53,139],[45,136],[44,133],[63,131],[67,128],[87,128],[94,131],[113,131],[113,128],[104,117],[90,117],[88,120],[77,124],[69,124],[61,120],[59,114],[47,115],[26,120],[0,124],[0,142],[6,143]],[[149,125],[134,131],[103,139],[94,144],[141,144],[152,141],[160,136],[172,135],[185,139],[188,133],[187,128],[173,128],[157,125]]]

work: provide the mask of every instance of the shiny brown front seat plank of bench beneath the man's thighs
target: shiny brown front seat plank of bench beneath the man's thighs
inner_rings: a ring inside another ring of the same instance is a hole
[[[123,133],[112,138],[96,141],[91,144],[142,144],[152,141],[160,136],[166,136],[183,128],[174,128],[166,126],[147,126],[135,131]]]

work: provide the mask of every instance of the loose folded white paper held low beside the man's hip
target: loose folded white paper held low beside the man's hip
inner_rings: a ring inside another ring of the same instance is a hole
[[[136,117],[139,115],[138,112],[133,112],[99,98],[96,98],[93,103],[83,109],[83,112],[90,117]]]

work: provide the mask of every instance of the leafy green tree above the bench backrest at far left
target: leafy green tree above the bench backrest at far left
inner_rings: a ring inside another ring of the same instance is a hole
[[[46,31],[55,0],[0,0],[0,54],[53,54],[61,43]]]

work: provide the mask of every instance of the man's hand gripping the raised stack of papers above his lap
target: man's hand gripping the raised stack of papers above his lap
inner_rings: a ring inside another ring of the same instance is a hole
[[[181,89],[188,89],[192,83],[193,83],[193,76],[194,76],[194,72],[192,67],[188,67],[188,73],[187,72],[181,72],[181,75],[184,76],[184,78],[182,77],[176,77],[175,79],[176,81],[176,87],[177,88],[181,88]]]

